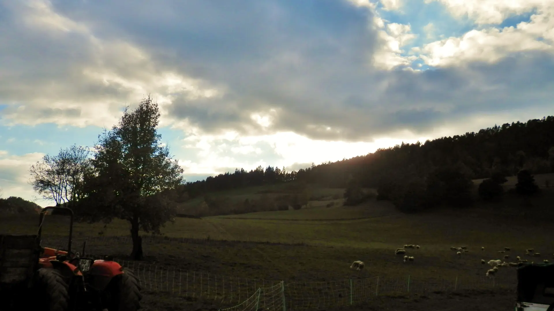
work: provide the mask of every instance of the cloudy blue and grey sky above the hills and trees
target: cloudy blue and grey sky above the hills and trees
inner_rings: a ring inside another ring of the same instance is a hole
[[[0,188],[149,94],[187,181],[552,115],[554,0],[0,0]]]

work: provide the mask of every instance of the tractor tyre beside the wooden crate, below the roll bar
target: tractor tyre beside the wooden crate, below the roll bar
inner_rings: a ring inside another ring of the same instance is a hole
[[[38,304],[37,310],[68,310],[68,285],[58,270],[40,268],[33,278],[33,300]]]

